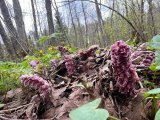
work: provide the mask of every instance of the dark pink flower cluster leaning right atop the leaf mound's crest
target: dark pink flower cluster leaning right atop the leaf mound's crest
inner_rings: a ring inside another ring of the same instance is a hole
[[[81,51],[79,53],[80,58],[83,60],[86,60],[88,57],[94,56],[95,55],[95,51],[98,49],[97,45],[93,45],[91,46],[88,50],[86,51]]]

